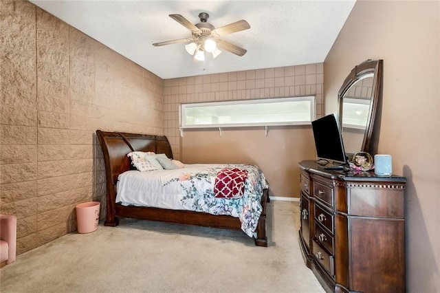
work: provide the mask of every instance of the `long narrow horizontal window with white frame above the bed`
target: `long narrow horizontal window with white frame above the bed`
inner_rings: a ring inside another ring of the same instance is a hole
[[[180,127],[245,127],[310,124],[315,97],[269,98],[182,104]]]

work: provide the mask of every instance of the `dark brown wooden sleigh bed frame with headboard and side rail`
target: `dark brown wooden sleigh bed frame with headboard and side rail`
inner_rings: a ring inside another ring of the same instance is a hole
[[[100,130],[96,131],[96,135],[98,135],[98,140],[102,147],[107,177],[107,215],[104,223],[105,226],[118,226],[119,217],[124,217],[241,230],[239,218],[227,215],[211,215],[190,210],[168,210],[164,208],[116,204],[116,182],[118,176],[131,169],[129,158],[126,157],[127,153],[131,151],[153,151],[155,153],[165,153],[168,158],[173,158],[173,153],[166,136],[104,132]],[[256,246],[267,246],[267,202],[269,202],[269,191],[265,189],[261,199],[263,211],[259,224],[256,227]]]

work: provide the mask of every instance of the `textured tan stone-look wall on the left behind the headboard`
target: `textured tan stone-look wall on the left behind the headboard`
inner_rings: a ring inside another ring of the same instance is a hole
[[[96,129],[163,135],[164,83],[32,3],[0,10],[0,213],[17,215],[22,253],[104,199]]]

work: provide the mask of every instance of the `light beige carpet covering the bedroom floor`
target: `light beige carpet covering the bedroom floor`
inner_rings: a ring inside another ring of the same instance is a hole
[[[122,219],[0,270],[5,292],[324,292],[300,254],[298,203],[267,208],[269,247],[241,231]]]

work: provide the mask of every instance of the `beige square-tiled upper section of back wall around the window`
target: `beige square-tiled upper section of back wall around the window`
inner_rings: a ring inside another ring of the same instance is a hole
[[[212,61],[214,62],[214,61]],[[179,105],[188,102],[316,96],[316,115],[324,113],[323,64],[208,74],[164,81],[165,135],[180,158]]]

